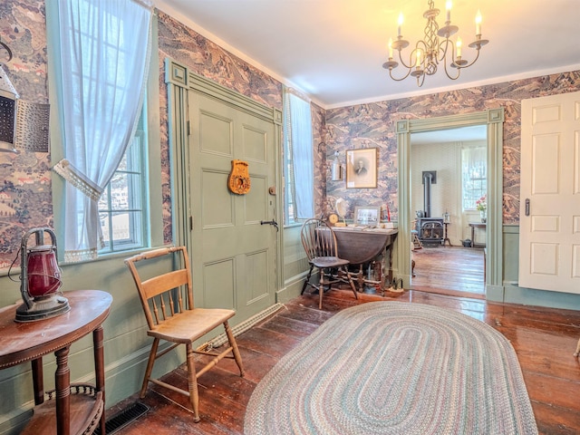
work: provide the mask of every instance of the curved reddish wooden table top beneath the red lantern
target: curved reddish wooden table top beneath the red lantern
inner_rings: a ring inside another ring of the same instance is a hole
[[[14,304],[0,308],[0,369],[34,360],[91,333],[109,315],[112,296],[101,290],[65,292],[71,311],[49,319],[18,323]]]

